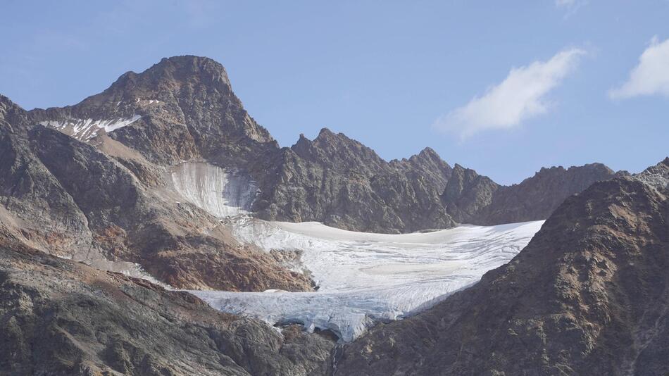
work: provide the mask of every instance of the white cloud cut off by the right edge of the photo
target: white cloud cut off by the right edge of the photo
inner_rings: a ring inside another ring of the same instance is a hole
[[[657,36],[639,57],[627,82],[608,92],[611,99],[653,94],[669,96],[669,39],[659,42]]]

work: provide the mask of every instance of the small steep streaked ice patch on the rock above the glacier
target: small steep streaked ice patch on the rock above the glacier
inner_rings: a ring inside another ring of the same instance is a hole
[[[181,163],[171,177],[175,190],[186,201],[218,218],[249,213],[258,191],[251,177],[211,163]]]

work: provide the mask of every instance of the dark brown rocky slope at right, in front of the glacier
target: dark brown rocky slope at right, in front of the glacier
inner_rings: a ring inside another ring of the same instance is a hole
[[[337,374],[669,372],[668,172],[669,159],[571,196],[510,263],[375,327],[344,349]]]

